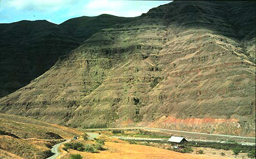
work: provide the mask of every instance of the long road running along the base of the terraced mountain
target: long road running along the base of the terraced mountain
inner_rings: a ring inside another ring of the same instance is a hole
[[[144,127],[133,127],[133,128],[102,128],[102,129],[83,129],[83,130],[112,130],[112,129],[148,129],[148,130],[160,130],[160,131],[172,131],[172,132],[184,132],[184,133],[194,133],[198,135],[208,135],[208,136],[220,136],[220,137],[233,137],[233,138],[244,138],[244,139],[254,139],[255,137],[243,137],[243,136],[233,136],[233,135],[222,135],[217,133],[202,133],[202,132],[190,132],[190,131],[180,131],[171,129],[161,129],[161,128],[144,128]]]

